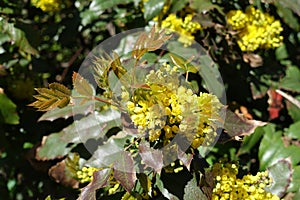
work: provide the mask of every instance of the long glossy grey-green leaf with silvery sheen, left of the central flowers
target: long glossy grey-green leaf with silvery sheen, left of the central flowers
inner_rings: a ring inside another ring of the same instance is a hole
[[[109,109],[95,112],[64,128],[59,133],[52,133],[43,138],[42,146],[37,151],[37,158],[49,160],[65,156],[76,144],[89,139],[99,139],[107,131],[121,125],[120,113]],[[71,144],[69,146],[69,144]]]

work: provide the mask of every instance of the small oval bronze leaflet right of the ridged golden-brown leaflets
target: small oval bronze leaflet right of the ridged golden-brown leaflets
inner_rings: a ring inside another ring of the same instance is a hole
[[[75,90],[86,97],[91,97],[95,95],[95,90],[91,84],[83,78],[80,74],[74,72],[72,76],[73,86]]]

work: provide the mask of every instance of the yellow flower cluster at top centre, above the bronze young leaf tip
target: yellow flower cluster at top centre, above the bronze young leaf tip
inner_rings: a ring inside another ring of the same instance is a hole
[[[168,29],[169,32],[177,32],[179,34],[178,41],[185,46],[190,46],[195,38],[193,34],[201,29],[201,25],[198,22],[193,22],[192,18],[192,14],[186,15],[184,19],[170,14],[162,21],[161,27]]]

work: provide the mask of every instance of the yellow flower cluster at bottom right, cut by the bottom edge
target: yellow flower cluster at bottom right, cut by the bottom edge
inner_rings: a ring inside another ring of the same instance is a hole
[[[213,165],[212,173],[215,181],[212,200],[280,200],[277,195],[265,190],[272,182],[267,171],[239,179],[238,163],[220,161]]]

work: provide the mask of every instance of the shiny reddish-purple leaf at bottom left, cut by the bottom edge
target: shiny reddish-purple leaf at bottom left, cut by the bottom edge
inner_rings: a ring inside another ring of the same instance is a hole
[[[78,199],[96,200],[96,190],[109,185],[110,169],[103,169],[93,174],[93,180],[81,190]]]

